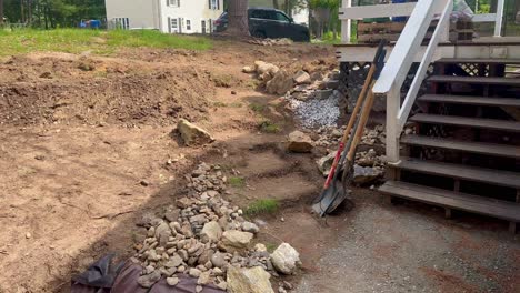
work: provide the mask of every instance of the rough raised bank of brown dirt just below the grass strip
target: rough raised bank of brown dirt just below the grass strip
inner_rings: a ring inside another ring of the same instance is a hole
[[[179,118],[198,120],[214,94],[210,73],[191,67],[134,72],[100,60],[46,58],[32,61],[39,70],[23,65],[30,62],[4,64],[10,78],[18,78],[0,83],[2,124],[166,125]]]

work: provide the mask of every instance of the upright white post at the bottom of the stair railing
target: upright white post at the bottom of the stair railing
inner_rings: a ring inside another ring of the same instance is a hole
[[[399,162],[399,120],[401,90],[392,87],[387,93],[387,159],[390,163]]]

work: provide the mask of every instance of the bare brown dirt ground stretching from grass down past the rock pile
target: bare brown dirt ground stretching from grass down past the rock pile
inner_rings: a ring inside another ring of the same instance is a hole
[[[320,184],[313,158],[284,154],[292,119],[241,68],[256,60],[318,67],[316,55],[332,63],[332,49],[216,48],[113,58],[32,53],[0,63],[0,292],[67,292],[70,276],[97,257],[132,255],[143,236],[136,222],[171,204],[200,160],[242,172],[247,186],[230,195],[238,204],[269,196],[288,206],[262,219],[262,238],[294,243],[306,265],[319,259],[308,236],[322,226],[301,204]],[[179,118],[217,142],[182,146],[172,134]],[[260,133],[264,118],[281,131]],[[307,234],[287,229],[297,224]],[[330,238],[320,234],[316,243]]]

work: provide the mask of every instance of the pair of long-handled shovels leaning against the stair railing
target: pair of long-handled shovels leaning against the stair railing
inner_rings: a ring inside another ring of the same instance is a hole
[[[370,111],[373,105],[373,92],[371,91],[371,89],[376,83],[379,72],[384,63],[386,43],[387,42],[384,40],[381,40],[381,42],[379,43],[379,48],[376,53],[372,67],[370,67],[361,93],[358,97],[358,101],[356,102],[356,107],[352,111],[349,123],[347,124],[343,137],[340,141],[338,152],[336,153],[334,161],[323,185],[323,190],[313,202],[312,210],[320,216],[323,216],[324,214],[334,211],[347,198],[344,184],[341,182],[341,180],[338,179],[344,179],[347,178],[347,174],[351,173],[351,162],[353,161],[356,149],[358,148],[361,134],[363,132],[364,125],[367,124]],[[362,112],[358,119],[358,113],[361,108]],[[350,132],[352,132],[352,134],[350,134]],[[348,161],[348,164],[344,164],[346,160]],[[343,166],[348,166],[349,169],[344,170]],[[343,170],[341,172],[342,168]],[[342,174],[340,175],[340,173]]]

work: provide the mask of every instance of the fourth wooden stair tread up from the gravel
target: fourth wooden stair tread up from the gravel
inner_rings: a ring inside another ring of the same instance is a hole
[[[483,119],[483,118],[466,118],[454,115],[436,115],[436,114],[414,114],[410,119],[413,122],[432,123],[432,124],[448,124],[459,127],[472,127],[481,129],[503,130],[511,132],[520,132],[520,122]]]

